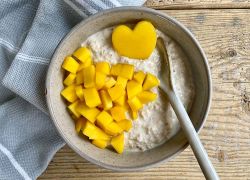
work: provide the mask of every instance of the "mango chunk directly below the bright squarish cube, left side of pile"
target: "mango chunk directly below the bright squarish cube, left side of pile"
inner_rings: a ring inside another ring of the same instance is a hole
[[[76,110],[87,120],[94,123],[96,121],[96,117],[100,113],[97,108],[89,108],[83,102],[79,103]]]

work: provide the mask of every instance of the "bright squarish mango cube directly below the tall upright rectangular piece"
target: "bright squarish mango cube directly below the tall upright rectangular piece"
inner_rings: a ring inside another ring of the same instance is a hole
[[[102,103],[96,88],[83,89],[83,95],[86,105],[90,108],[99,106]]]

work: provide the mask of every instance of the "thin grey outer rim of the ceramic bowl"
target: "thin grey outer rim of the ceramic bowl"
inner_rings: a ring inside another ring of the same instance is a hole
[[[198,40],[194,37],[194,35],[183,25],[181,24],[179,21],[177,21],[175,18],[167,15],[166,13],[163,12],[159,12],[156,11],[154,9],[151,8],[146,8],[146,7],[137,7],[137,6],[125,6],[125,7],[115,7],[112,9],[107,9],[101,12],[98,12],[92,16],[89,16],[88,18],[82,20],[80,23],[78,23],[75,27],[73,27],[70,32],[60,41],[60,43],[58,44],[52,59],[51,59],[51,63],[53,63],[55,61],[55,56],[56,54],[60,51],[60,47],[64,44],[65,41],[67,41],[68,38],[70,38],[71,34],[78,28],[80,28],[83,24],[85,24],[86,22],[89,21],[93,21],[95,20],[95,18],[99,17],[99,16],[103,16],[105,14],[108,13],[113,13],[113,12],[117,12],[117,11],[140,11],[140,12],[146,12],[146,13],[150,13],[156,16],[160,16],[161,18],[164,18],[168,21],[170,21],[171,23],[177,25],[179,28],[182,29],[182,31],[184,31],[186,33],[187,36],[189,36],[193,43],[197,46],[198,50],[200,51],[200,54],[203,58],[203,63],[205,66],[205,70],[206,70],[206,75],[207,75],[207,81],[208,81],[208,96],[207,96],[207,105],[206,105],[206,110],[204,112],[203,118],[201,119],[201,124],[200,127],[198,129],[196,129],[196,131],[199,133],[200,130],[203,128],[206,118],[208,116],[208,112],[211,106],[211,100],[212,100],[212,79],[211,79],[211,72],[210,72],[210,68],[208,65],[208,60],[207,57],[205,55],[205,52],[203,51],[203,49],[201,48],[201,45],[199,44]],[[117,166],[112,166],[112,165],[108,165],[102,162],[99,162],[91,157],[89,157],[87,154],[85,154],[84,152],[78,150],[77,147],[74,146],[73,143],[71,143],[67,137],[63,134],[63,132],[60,131],[59,125],[57,124],[56,120],[55,120],[55,115],[53,113],[53,108],[52,108],[52,102],[50,99],[50,96],[48,94],[48,92],[50,92],[48,89],[50,89],[49,83],[50,83],[50,77],[52,74],[53,69],[51,68],[51,66],[49,65],[48,71],[47,71],[47,76],[46,76],[46,82],[45,82],[45,87],[46,87],[46,103],[48,106],[48,110],[49,110],[49,114],[53,120],[54,125],[56,126],[57,132],[60,134],[60,136],[64,139],[64,141],[67,143],[67,145],[72,148],[77,154],[79,154],[81,157],[83,157],[84,159],[88,160],[89,162],[96,164],[98,166],[104,167],[106,169],[110,169],[110,170],[114,170],[114,171],[119,171],[119,172],[132,172],[132,171],[140,171],[140,170],[145,170],[148,168],[151,168],[153,166],[159,165],[163,162],[167,162],[171,159],[173,159],[174,157],[176,157],[177,155],[179,155],[182,151],[184,151],[187,146],[189,145],[189,143],[187,142],[186,144],[184,144],[178,151],[176,151],[175,153],[173,153],[171,156],[163,158],[161,160],[149,163],[149,164],[144,164],[141,166],[137,166],[137,167],[117,167]]]

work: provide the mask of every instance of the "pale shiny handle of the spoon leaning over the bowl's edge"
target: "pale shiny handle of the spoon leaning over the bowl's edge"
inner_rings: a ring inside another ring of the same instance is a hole
[[[193,149],[194,155],[202,169],[202,172],[206,179],[217,180],[219,176],[217,175],[209,157],[204,149],[198,134],[190,120],[182,102],[179,97],[172,90],[167,90],[165,93],[168,94],[168,99],[172,105],[178,119],[182,130],[184,131],[191,148]]]

